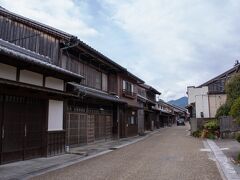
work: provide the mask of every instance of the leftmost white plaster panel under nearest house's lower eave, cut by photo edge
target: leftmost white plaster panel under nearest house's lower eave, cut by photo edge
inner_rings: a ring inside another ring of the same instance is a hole
[[[0,78],[16,81],[17,68],[0,63]]]

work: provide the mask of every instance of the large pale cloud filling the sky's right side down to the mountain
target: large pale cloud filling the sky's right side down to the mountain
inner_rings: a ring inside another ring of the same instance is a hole
[[[186,86],[207,81],[240,56],[237,0],[104,0],[104,7],[144,51],[138,66],[129,67],[164,91],[164,99],[185,95]]]

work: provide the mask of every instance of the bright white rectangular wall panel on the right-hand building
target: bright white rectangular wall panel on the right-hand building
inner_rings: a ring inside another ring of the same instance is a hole
[[[196,118],[201,118],[201,112],[204,118],[209,118],[208,95],[196,95]]]

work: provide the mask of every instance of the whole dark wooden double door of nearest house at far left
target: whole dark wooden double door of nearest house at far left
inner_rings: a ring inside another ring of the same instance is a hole
[[[1,163],[41,157],[46,103],[37,98],[4,96]]]

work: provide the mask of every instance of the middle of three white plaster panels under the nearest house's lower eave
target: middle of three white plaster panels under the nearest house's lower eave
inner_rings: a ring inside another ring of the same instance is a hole
[[[19,81],[23,82],[23,83],[27,83],[27,84],[42,86],[43,85],[43,75],[32,72],[32,71],[21,70]]]

